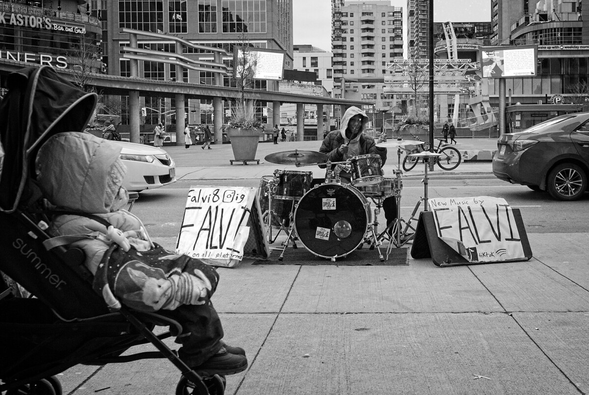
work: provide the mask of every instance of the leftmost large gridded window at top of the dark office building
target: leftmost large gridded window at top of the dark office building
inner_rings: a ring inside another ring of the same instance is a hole
[[[163,33],[163,0],[119,0],[118,27]]]

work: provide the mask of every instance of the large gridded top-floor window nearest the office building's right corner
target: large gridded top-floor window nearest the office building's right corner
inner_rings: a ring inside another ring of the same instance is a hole
[[[266,0],[223,0],[223,33],[266,33]]]

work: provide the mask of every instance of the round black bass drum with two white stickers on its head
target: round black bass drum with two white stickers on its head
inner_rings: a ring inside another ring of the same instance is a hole
[[[348,184],[321,184],[303,196],[294,212],[300,242],[325,258],[346,256],[364,239],[370,206],[360,191]]]

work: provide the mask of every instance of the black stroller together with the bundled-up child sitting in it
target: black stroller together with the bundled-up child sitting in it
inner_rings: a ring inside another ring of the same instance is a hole
[[[0,270],[35,298],[5,297],[0,277],[0,392],[35,393],[27,383],[43,382],[52,388],[48,393],[61,393],[49,376],[75,364],[167,357],[184,376],[178,393],[190,387],[222,394],[219,381],[245,370],[247,359],[243,349],[223,343],[210,302],[219,276],[206,263],[151,242],[141,221],[120,209],[127,202],[120,149],[81,132],[95,93],[78,90],[47,66],[12,73],[6,81],[9,92],[0,102]],[[81,251],[82,259],[75,259]],[[119,281],[123,277],[129,281]],[[182,345],[177,354],[161,342],[169,334],[151,332],[164,324]],[[146,342],[158,356],[120,357]],[[17,353],[18,347],[25,348]]]

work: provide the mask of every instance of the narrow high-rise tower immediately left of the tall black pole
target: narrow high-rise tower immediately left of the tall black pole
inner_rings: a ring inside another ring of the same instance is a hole
[[[409,59],[429,58],[429,0],[407,0]]]

